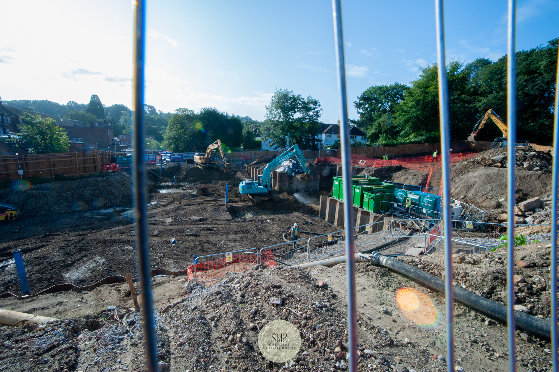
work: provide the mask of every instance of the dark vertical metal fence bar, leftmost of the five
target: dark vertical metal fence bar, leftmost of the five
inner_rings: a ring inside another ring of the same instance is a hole
[[[144,56],[145,56],[145,0],[136,0],[134,24],[134,219],[136,222],[136,247],[142,295],[141,311],[145,337],[146,368],[157,370],[153,297],[149,263],[148,219],[145,192],[144,161]]]

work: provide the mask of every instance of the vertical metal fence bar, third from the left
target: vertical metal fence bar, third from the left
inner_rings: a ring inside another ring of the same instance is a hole
[[[447,370],[454,372],[454,295],[452,293],[452,226],[451,226],[451,159],[450,124],[448,116],[448,82],[444,56],[443,0],[435,0],[435,25],[437,28],[437,63],[439,80],[440,160],[443,192],[444,236],[444,294],[447,318]]]

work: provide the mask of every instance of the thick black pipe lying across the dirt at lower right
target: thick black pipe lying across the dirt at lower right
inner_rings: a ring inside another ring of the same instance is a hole
[[[444,280],[437,276],[425,273],[425,271],[415,268],[414,266],[405,264],[401,261],[383,256],[380,253],[372,255],[372,263],[383,266],[387,269],[404,274],[417,282],[426,285],[429,288],[444,293]],[[471,308],[481,311],[484,314],[492,316],[506,323],[506,306],[481,297],[462,287],[453,286],[454,299]],[[551,336],[551,323],[547,320],[534,317],[532,315],[515,310],[514,317],[516,325],[523,330],[536,333],[536,335],[549,338]]]

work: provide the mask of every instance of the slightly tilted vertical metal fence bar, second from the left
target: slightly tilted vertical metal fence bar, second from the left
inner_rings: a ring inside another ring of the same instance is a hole
[[[340,0],[332,0],[334,18],[334,42],[338,70],[338,93],[340,101],[340,145],[342,145],[342,179],[344,190],[344,230],[348,291],[348,346],[349,371],[357,372],[357,301],[355,279],[355,244],[353,241],[351,147],[349,145],[349,120],[347,93],[345,91],[344,38],[342,34],[342,6]]]

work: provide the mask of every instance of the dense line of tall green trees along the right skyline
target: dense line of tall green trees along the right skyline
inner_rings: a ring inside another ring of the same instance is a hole
[[[557,73],[557,40],[517,53],[517,138],[550,145]],[[506,60],[479,58],[447,66],[451,140],[465,140],[487,109],[506,123]],[[410,85],[373,85],[354,102],[353,121],[367,133],[369,145],[393,146],[440,141],[437,65],[421,69]],[[503,134],[492,122],[478,140]]]

